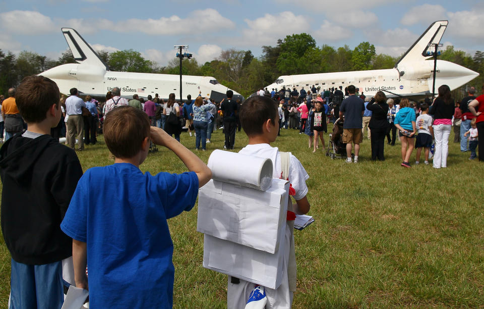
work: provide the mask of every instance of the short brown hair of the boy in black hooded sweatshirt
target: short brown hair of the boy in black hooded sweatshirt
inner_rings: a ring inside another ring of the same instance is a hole
[[[17,87],[15,102],[27,123],[38,123],[45,119],[49,108],[58,108],[61,93],[57,84],[44,76],[27,76]]]

